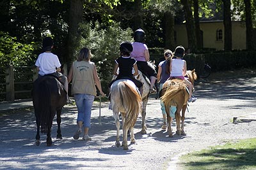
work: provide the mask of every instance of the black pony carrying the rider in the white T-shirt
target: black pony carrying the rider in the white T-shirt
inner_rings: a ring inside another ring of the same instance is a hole
[[[60,81],[54,76],[42,76],[33,84],[33,106],[36,117],[36,146],[40,145],[41,132],[47,134],[47,146],[52,145],[51,127],[52,120],[57,112],[57,139],[62,139],[60,123],[61,110],[67,100],[67,92],[63,89]]]

